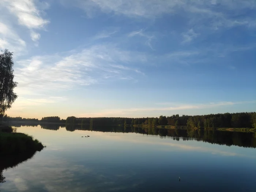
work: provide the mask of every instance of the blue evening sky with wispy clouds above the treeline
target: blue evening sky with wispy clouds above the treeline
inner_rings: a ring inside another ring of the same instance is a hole
[[[8,116],[157,117],[256,109],[255,0],[0,0]]]

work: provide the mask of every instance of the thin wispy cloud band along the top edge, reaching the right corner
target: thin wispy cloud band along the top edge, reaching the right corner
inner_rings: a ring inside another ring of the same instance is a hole
[[[70,5],[67,0],[61,1]],[[255,10],[256,2],[254,0],[131,0],[129,2],[126,0],[75,0],[72,1],[72,5],[84,9],[89,15],[93,15],[92,12],[96,10],[101,10],[132,18],[156,18],[163,14],[182,12],[194,24],[198,23],[198,20],[208,20],[209,22],[204,24],[211,25],[214,29],[237,25],[252,27],[256,23],[255,19],[234,18],[238,12],[246,9]]]

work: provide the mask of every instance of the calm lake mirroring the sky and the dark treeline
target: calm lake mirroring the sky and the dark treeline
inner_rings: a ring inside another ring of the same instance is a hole
[[[255,133],[14,126],[47,147],[3,170],[1,192],[255,192]]]

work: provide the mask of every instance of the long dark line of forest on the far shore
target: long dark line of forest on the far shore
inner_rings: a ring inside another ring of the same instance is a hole
[[[35,118],[3,117],[4,121],[23,121],[35,123],[67,123],[87,125],[143,125],[155,127],[157,125],[172,125],[175,127],[187,126],[188,128],[256,128],[256,112],[249,113],[224,113],[188,116],[178,114],[173,116],[147,117],[147,118],[123,118],[123,117],[67,117],[61,119],[58,116]]]

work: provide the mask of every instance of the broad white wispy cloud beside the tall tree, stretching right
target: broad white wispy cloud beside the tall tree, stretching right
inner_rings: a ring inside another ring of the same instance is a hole
[[[140,53],[121,50],[110,44],[94,45],[62,55],[34,56],[17,61],[19,67],[15,69],[15,80],[19,85],[15,90],[20,94],[30,93],[31,90],[44,93],[102,83],[106,76],[131,79],[131,75],[143,72],[130,65],[143,60],[144,56]]]

